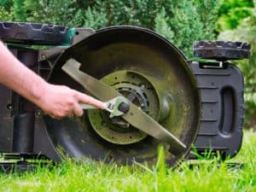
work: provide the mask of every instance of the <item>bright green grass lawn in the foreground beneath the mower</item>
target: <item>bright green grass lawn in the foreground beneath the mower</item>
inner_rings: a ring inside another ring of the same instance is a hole
[[[188,162],[180,169],[161,163],[156,168],[103,166],[67,160],[36,172],[0,174],[0,191],[256,191],[256,133],[246,131],[240,153],[231,162],[207,161],[193,170]]]

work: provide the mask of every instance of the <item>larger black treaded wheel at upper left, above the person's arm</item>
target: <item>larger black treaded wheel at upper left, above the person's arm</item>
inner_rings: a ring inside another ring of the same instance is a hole
[[[39,23],[0,22],[0,38],[8,44],[71,44],[69,28]]]

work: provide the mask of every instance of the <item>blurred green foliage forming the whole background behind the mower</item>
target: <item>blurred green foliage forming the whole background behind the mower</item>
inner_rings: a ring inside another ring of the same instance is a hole
[[[195,40],[252,44],[252,58],[239,61],[246,82],[247,126],[256,125],[256,0],[1,0],[0,20],[94,29],[143,26],[159,32],[192,58]]]

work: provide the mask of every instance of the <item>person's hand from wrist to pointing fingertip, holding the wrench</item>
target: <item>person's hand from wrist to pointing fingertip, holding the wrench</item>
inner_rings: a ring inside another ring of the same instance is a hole
[[[104,102],[64,85],[47,84],[42,92],[43,94],[36,104],[55,119],[61,119],[66,116],[73,117],[73,115],[82,116],[83,109],[79,103],[90,104],[96,108],[106,108]]]

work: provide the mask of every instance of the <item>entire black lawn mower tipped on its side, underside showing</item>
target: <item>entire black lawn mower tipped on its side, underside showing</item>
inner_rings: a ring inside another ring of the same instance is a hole
[[[195,62],[187,61],[160,35],[135,26],[96,32],[28,23],[1,26],[0,37],[12,43],[9,49],[49,83],[65,84],[103,102],[119,95],[130,101],[130,111],[121,117],[110,118],[108,112],[93,109],[84,111],[81,118],[57,120],[1,86],[0,151],[17,154],[9,157],[44,154],[60,160],[68,154],[107,162],[152,163],[163,143],[166,161],[172,164],[184,156],[195,158],[189,154],[193,143],[199,154],[207,149],[234,156],[239,151],[243,79],[239,69],[226,60],[246,58],[247,44],[196,43],[195,55],[218,61]],[[71,42],[48,50],[19,45]],[[68,72],[76,63],[81,65],[73,77],[61,69],[71,58]],[[78,78],[80,73],[89,76],[83,81]],[[90,77],[95,86],[89,86]]]

